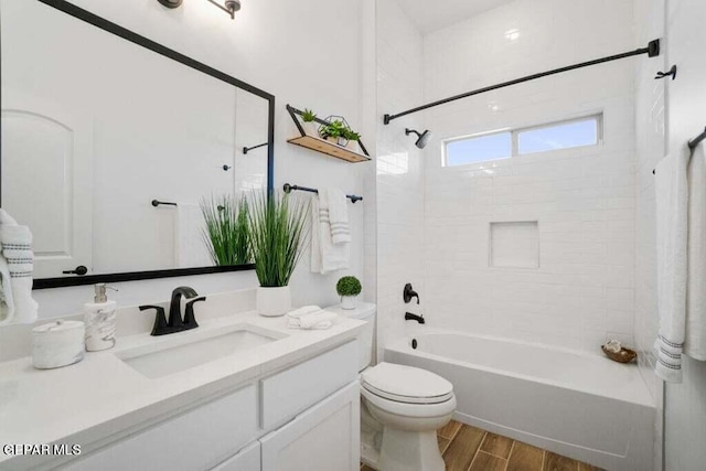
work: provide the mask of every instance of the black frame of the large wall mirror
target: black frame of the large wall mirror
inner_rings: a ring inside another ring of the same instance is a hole
[[[72,4],[65,0],[36,0],[49,7],[53,7],[58,11],[62,11],[71,17],[74,17],[81,21],[93,24],[94,26],[106,31],[116,36],[122,38],[133,44],[148,49],[157,54],[161,54],[164,57],[179,62],[186,67],[193,68],[203,74],[210,75],[234,87],[242,88],[245,92],[249,92],[253,95],[257,95],[268,101],[268,119],[267,119],[267,189],[272,191],[275,180],[275,95],[271,95],[263,89],[259,89],[250,84],[239,81],[228,74],[217,71],[206,64],[195,61],[184,54],[181,54],[172,49],[169,49],[162,44],[159,44],[152,40],[149,40],[140,34],[137,34],[126,28],[122,28],[116,23],[113,23],[101,17],[90,13],[75,4]],[[0,81],[2,79],[0,71]],[[1,105],[1,96],[0,96]],[[1,106],[0,106],[1,108]],[[0,156],[0,172],[2,159]],[[1,200],[0,200],[1,203]],[[93,285],[97,282],[124,282],[147,280],[156,278],[173,278],[173,277],[186,277],[193,275],[208,275],[221,274],[226,271],[245,271],[255,269],[254,264],[248,265],[231,265],[231,266],[214,266],[214,267],[195,267],[195,268],[174,268],[167,270],[149,270],[149,271],[127,271],[116,274],[100,274],[100,275],[86,275],[74,277],[60,277],[60,278],[41,278],[35,279],[33,289],[46,289],[46,288],[64,288],[71,286]]]

